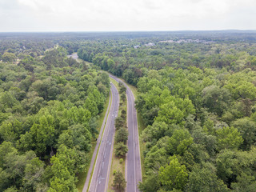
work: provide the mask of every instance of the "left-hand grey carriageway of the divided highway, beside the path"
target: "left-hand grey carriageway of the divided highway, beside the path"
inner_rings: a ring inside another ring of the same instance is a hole
[[[110,177],[110,166],[114,147],[114,119],[118,116],[119,94],[117,88],[111,84],[112,102],[106,127],[99,146],[98,157],[94,166],[94,173],[90,182],[89,192],[107,191]]]

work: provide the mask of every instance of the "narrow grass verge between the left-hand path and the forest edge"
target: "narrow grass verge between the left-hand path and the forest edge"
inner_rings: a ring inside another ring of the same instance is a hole
[[[99,116],[98,120],[97,120],[97,124],[98,124],[97,130],[98,130],[98,132],[100,131],[100,129],[102,127],[102,122],[103,122],[105,114],[107,112],[106,110],[107,110],[107,106],[109,105],[109,101],[110,101],[110,95],[108,95],[107,98],[106,98],[106,102],[104,104],[104,110],[102,111],[101,114],[98,115]],[[98,138],[98,134],[95,137]],[[93,138],[92,141],[91,141],[91,150],[90,150],[90,153],[88,154],[90,162],[91,162],[91,158],[94,154],[94,149],[95,149],[96,144],[97,144],[97,141],[95,141],[95,138]],[[98,154],[98,152],[97,152],[97,154]],[[97,158],[97,156],[96,156],[96,158]],[[78,192],[82,192],[83,186],[85,185],[86,175],[87,175],[87,171],[89,170],[89,167],[90,167],[90,162],[88,162],[88,165],[86,166],[86,171],[78,174],[78,183],[77,183]],[[95,164],[95,162],[94,162],[94,164]]]

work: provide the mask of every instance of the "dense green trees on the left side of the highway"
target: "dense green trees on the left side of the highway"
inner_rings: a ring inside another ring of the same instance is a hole
[[[0,191],[77,191],[109,77],[60,46],[22,54],[0,62]]]

